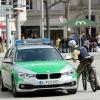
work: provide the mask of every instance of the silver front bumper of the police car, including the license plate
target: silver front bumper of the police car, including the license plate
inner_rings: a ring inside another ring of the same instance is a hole
[[[43,83],[44,82],[44,83]],[[17,92],[33,92],[37,90],[70,90],[77,89],[77,79],[24,80],[18,82]]]

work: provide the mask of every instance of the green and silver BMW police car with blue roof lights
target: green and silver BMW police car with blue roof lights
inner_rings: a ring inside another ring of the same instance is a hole
[[[1,90],[11,90],[13,96],[46,89],[77,92],[75,67],[55,47],[40,42],[20,41],[9,48],[1,64],[1,77]]]

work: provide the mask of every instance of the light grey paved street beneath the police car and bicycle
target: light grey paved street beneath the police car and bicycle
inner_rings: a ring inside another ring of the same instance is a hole
[[[91,55],[94,55],[94,62],[93,65],[96,67],[97,77],[98,81],[100,83],[100,52],[98,53],[91,53]],[[2,54],[3,56],[3,54]],[[72,61],[69,61],[70,63],[74,65],[78,65],[77,63],[73,63]],[[14,98],[11,94],[11,92],[1,92],[0,91],[0,100],[99,100],[100,99],[100,90],[97,92],[92,92],[90,88],[90,84],[88,83],[88,89],[86,91],[83,90],[81,79],[79,82],[78,92],[75,95],[68,95],[67,93],[63,92],[35,92],[29,95],[24,95],[20,98]]]

